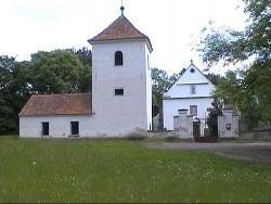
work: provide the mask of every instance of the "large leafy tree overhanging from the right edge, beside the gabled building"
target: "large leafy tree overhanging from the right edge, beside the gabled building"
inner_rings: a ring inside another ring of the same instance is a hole
[[[233,73],[229,74],[215,94],[234,104],[242,117],[255,126],[260,119],[271,119],[271,2],[244,2],[248,26],[243,31],[204,29],[198,51],[209,66],[220,61],[224,65],[249,62],[240,77],[232,78]]]

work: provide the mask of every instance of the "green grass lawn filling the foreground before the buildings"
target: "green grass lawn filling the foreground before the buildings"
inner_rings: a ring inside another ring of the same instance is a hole
[[[271,202],[271,165],[125,140],[0,137],[0,202]]]

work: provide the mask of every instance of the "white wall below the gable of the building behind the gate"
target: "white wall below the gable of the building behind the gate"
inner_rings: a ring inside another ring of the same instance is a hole
[[[197,117],[205,118],[208,116],[207,109],[211,107],[211,102],[212,98],[163,100],[164,127],[173,130],[173,116],[178,115],[180,109],[188,109],[190,114],[190,105],[197,105]]]

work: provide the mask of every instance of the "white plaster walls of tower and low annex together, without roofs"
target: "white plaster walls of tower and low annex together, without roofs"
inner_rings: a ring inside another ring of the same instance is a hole
[[[70,136],[70,122],[79,123],[79,137],[126,137],[152,129],[152,80],[149,38],[92,43],[92,114],[20,116],[21,138],[41,138],[41,123],[49,123],[49,137]],[[122,65],[115,65],[115,52]],[[115,95],[115,89],[124,95]]]

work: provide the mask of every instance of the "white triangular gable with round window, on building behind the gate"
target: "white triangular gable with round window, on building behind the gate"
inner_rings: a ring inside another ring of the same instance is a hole
[[[193,89],[193,90],[192,90]],[[215,86],[192,63],[180,78],[164,93],[166,98],[210,97]]]

